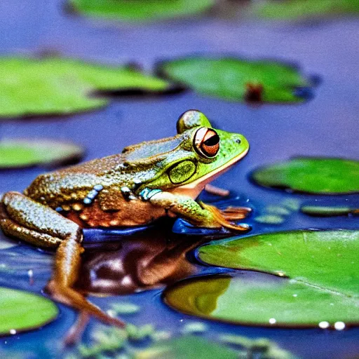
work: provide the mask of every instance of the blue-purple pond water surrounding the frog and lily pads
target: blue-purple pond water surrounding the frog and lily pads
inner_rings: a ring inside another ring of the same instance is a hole
[[[250,107],[203,97],[191,92],[164,97],[126,97],[109,107],[74,116],[4,122],[1,137],[53,137],[70,139],[86,147],[86,159],[114,154],[128,144],[175,134],[177,116],[197,108],[215,127],[243,133],[251,145],[248,156],[226,172],[215,184],[245,194],[255,211],[278,204],[284,198],[299,201],[313,196],[285,194],[250,183],[248,172],[257,166],[282,161],[290,156],[344,156],[359,158],[359,20],[332,20],[313,25],[203,18],[155,25],[118,25],[76,18],[62,11],[62,1],[12,0],[0,4],[1,55],[36,55],[54,51],[64,56],[106,64],[138,62],[151,70],[158,60],[194,53],[231,53],[257,58],[274,57],[299,63],[306,74],[323,79],[310,102],[302,105]],[[22,191],[43,170],[1,172],[0,193]],[[355,196],[333,197],[351,201]],[[297,228],[358,228],[358,217],[316,218],[294,212],[281,226],[251,222],[252,233]],[[39,252],[27,245],[11,249],[27,257]],[[7,250],[10,251],[10,250]],[[2,252],[3,262],[13,264]],[[50,255],[32,264],[34,284],[27,269],[10,275],[0,272],[0,285],[40,292],[50,276]],[[25,259],[24,259],[25,260]],[[18,263],[17,263],[18,264]],[[208,267],[194,265],[209,273]],[[91,298],[104,309],[121,300]],[[158,330],[178,331],[189,316],[172,311],[161,302],[161,289],[128,294],[123,300],[139,304],[141,311],[130,318],[135,324],[153,323]],[[61,306],[60,318],[42,330],[2,338],[1,348],[33,351],[36,358],[60,357],[59,343],[75,319]],[[91,323],[93,325],[94,322]],[[303,358],[353,358],[359,353],[359,329],[343,332],[323,330],[274,330],[206,322],[208,336],[221,332],[269,337]],[[85,337],[87,338],[88,332]]]

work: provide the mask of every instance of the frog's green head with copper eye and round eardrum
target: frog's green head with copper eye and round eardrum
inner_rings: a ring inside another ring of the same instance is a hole
[[[243,135],[215,130],[204,114],[189,110],[179,117],[175,137],[143,142],[125,152],[128,152],[128,159],[136,158],[137,161],[142,152],[142,164],[144,154],[147,163],[151,162],[148,167],[151,178],[142,187],[195,198],[205,184],[241,160],[248,149],[248,141]]]

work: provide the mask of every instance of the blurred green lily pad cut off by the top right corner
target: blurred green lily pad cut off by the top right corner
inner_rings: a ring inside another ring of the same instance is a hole
[[[328,15],[359,13],[358,0],[287,0],[266,1],[256,6],[263,18],[297,20]]]

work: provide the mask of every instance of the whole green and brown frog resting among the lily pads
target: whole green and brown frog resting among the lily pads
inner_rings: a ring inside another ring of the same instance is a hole
[[[190,110],[179,118],[174,137],[40,175],[24,194],[4,194],[0,226],[7,235],[32,245],[57,248],[47,285],[53,299],[123,326],[74,290],[83,252],[82,229],[139,226],[170,215],[195,226],[246,231],[248,226],[229,221],[244,218],[248,208],[219,210],[195,199],[248,148],[243,135],[214,130],[201,112]]]

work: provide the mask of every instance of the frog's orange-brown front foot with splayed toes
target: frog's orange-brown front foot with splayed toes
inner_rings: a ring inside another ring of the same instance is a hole
[[[225,210],[219,210],[214,205],[208,205],[201,202],[201,206],[212,213],[216,222],[224,226],[227,229],[233,229],[235,231],[248,231],[250,226],[248,224],[233,224],[229,221],[236,221],[247,217],[252,211],[249,207],[227,207]]]

